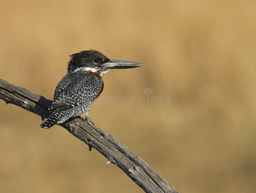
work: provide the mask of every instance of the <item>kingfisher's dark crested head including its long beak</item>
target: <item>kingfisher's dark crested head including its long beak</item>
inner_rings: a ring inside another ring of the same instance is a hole
[[[112,69],[136,68],[144,66],[137,62],[124,60],[110,60],[105,55],[96,50],[81,51],[70,55],[71,59],[68,64],[68,73],[73,72],[96,72],[99,75],[107,73]]]

